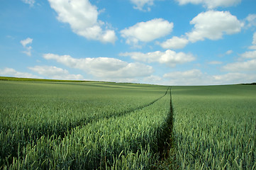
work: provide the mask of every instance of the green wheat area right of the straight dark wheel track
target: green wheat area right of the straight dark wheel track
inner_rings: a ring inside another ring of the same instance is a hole
[[[174,86],[179,169],[256,169],[256,86]]]

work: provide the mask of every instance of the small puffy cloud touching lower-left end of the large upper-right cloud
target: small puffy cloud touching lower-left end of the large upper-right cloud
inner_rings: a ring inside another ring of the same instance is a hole
[[[189,43],[189,40],[187,40],[187,38],[178,38],[174,36],[169,40],[162,42],[160,45],[165,49],[180,49],[185,47],[187,43]]]

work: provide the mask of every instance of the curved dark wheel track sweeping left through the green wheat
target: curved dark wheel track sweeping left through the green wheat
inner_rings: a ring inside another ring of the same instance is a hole
[[[126,114],[132,113],[134,111],[142,110],[143,108],[151,106],[156,101],[159,101],[161,98],[165,97],[167,95],[169,89],[170,89],[170,86],[168,86],[168,89],[167,89],[167,91],[165,91],[165,94],[163,96],[161,96],[160,98],[155,99],[155,101],[152,101],[143,106],[139,106],[138,108],[133,108],[133,109],[130,109],[127,111],[122,111],[120,113],[111,114],[111,115],[108,115],[108,116],[105,116],[102,118],[94,118],[94,117],[84,118],[82,120],[78,120],[75,123],[68,123],[67,125],[62,125],[62,123],[57,123],[55,125],[45,124],[42,126],[42,128],[40,128],[38,130],[34,130],[34,131],[33,131],[33,128],[31,128],[31,127],[26,127],[26,128],[20,129],[20,130],[18,130],[18,133],[22,134],[23,142],[20,142],[21,136],[14,137],[14,138],[16,138],[16,142],[12,142],[8,147],[6,147],[6,149],[1,151],[1,153],[0,153],[1,159],[5,160],[4,162],[6,164],[11,164],[11,162],[13,162],[13,157],[18,157],[18,155],[20,157],[22,157],[21,153],[18,154],[19,148],[23,148],[26,145],[28,145],[29,143],[33,143],[33,142],[36,143],[37,140],[40,139],[40,137],[42,137],[42,136],[51,137],[54,135],[56,138],[59,138],[59,137],[64,138],[67,133],[69,133],[71,130],[74,130],[75,128],[82,128],[84,125],[87,125],[89,123],[96,123],[103,118],[106,118],[106,119],[118,118],[122,115],[126,115]],[[52,130],[52,129],[54,129],[54,130]],[[32,130],[33,133],[30,134],[29,130]],[[17,130],[13,129],[11,127],[4,127],[4,126],[1,127],[1,132],[8,132],[8,131],[12,132],[12,131],[17,131]],[[14,132],[13,132],[13,135],[14,135]],[[0,167],[4,166],[2,164],[3,162],[0,162],[0,163],[1,163]]]

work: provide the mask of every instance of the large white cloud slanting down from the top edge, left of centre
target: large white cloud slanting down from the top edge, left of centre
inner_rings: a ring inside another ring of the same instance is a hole
[[[96,6],[91,5],[89,0],[48,0],[62,23],[69,23],[74,33],[90,40],[101,42],[116,41],[114,30],[102,30],[104,22],[98,21]]]

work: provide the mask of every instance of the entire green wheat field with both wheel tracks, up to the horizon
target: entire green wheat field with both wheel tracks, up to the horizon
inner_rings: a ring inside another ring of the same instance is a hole
[[[256,169],[256,86],[1,79],[0,169]]]

